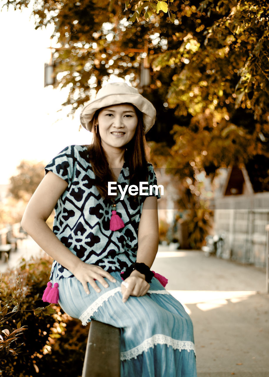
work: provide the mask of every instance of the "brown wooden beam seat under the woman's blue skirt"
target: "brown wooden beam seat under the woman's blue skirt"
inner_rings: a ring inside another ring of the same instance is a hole
[[[120,377],[120,330],[92,320],[82,377]]]

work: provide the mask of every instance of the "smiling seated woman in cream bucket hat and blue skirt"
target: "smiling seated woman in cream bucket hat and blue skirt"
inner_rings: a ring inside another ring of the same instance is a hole
[[[45,167],[22,226],[55,259],[47,300],[58,286],[59,304],[83,325],[96,319],[121,328],[122,377],[196,377],[190,317],[150,271],[160,196],[135,189],[157,184],[144,147],[155,114],[137,89],[102,87],[81,113],[93,143],[66,147]]]

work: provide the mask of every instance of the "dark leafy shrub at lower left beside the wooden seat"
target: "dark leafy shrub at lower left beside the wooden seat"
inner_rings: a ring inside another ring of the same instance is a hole
[[[23,261],[2,276],[0,330],[7,346],[0,343],[0,376],[81,376],[89,326],[57,305],[43,306],[51,262],[48,257]]]

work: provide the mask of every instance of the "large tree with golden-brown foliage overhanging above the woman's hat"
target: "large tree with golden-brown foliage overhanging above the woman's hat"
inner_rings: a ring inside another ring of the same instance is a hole
[[[36,28],[55,25],[55,86],[69,87],[72,112],[111,74],[139,87],[141,65],[150,67],[140,90],[158,115],[147,138],[170,147],[182,206],[206,205],[201,174],[269,156],[268,1],[34,0],[33,14]]]

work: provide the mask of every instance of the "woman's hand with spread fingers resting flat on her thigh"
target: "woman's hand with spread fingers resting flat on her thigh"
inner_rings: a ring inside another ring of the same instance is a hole
[[[110,275],[109,272],[103,270],[102,267],[94,264],[88,264],[80,261],[72,270],[73,275],[81,282],[83,288],[87,294],[90,293],[88,283],[93,287],[96,292],[100,292],[101,289],[96,284],[95,280],[98,280],[105,288],[109,287],[109,284],[104,279],[106,277],[113,283],[116,283],[116,279]]]

